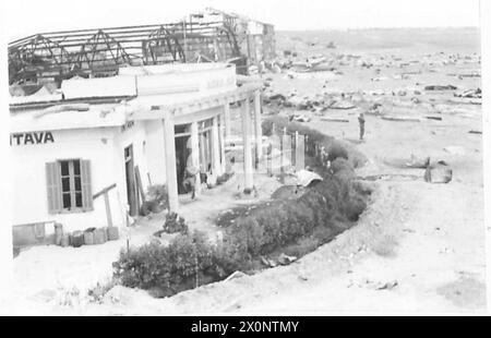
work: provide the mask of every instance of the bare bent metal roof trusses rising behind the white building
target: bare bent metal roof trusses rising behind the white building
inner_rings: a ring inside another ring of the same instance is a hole
[[[44,33],[9,44],[9,83],[118,74],[119,67],[240,56],[229,22],[141,25]]]

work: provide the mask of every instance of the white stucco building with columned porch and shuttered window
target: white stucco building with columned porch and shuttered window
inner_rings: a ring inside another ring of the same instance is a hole
[[[167,184],[178,210],[189,145],[202,171],[224,173],[237,101],[244,186],[252,188],[252,147],[259,155],[262,148],[260,88],[238,87],[233,67],[125,68],[113,77],[64,81],[57,95],[12,97],[14,244],[46,239],[55,222],[64,231],[123,226],[152,184]]]

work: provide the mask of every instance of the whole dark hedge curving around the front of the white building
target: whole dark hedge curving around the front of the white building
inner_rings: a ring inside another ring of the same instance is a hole
[[[297,198],[274,198],[260,206],[240,208],[233,218],[218,222],[224,236],[216,243],[194,231],[178,234],[168,245],[152,242],[123,250],[113,263],[117,281],[149,290],[155,297],[172,295],[223,280],[237,270],[253,271],[263,256],[286,253],[300,257],[358,220],[370,191],[355,181],[354,168],[361,166],[364,157],[333,137],[288,120],[264,121],[264,134],[271,133],[273,123],[308,135],[308,149],[315,144],[331,149],[332,170],[321,168],[309,156],[312,154],[307,154],[323,181],[307,188]]]

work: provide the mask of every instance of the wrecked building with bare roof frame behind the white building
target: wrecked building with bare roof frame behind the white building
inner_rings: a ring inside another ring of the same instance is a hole
[[[170,24],[35,34],[9,44],[10,85],[107,77],[120,69],[166,63],[233,62],[240,74],[275,57],[274,26],[206,9]],[[16,92],[19,95],[19,90]],[[22,94],[21,94],[22,95]]]

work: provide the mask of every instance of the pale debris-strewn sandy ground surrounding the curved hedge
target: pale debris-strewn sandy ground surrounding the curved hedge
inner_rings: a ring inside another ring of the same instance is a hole
[[[448,74],[472,71],[480,65],[469,60],[442,62],[448,53],[455,52],[452,46],[429,48],[445,50],[447,47],[446,55],[433,53],[428,60],[424,46],[417,47],[410,52],[405,52],[404,48],[360,52],[363,58],[373,60],[395,52],[402,55],[403,61],[419,60],[404,71],[421,73],[406,80],[393,76],[402,72],[402,61],[384,68],[381,74],[375,74],[374,69],[347,64],[338,67],[343,74],[337,75],[324,72],[294,80],[285,74],[267,75],[273,77],[273,92],[287,94],[295,88],[301,96],[325,89],[358,90],[363,105],[378,101],[385,114],[421,118],[420,122],[397,122],[367,114],[366,141],[358,143],[359,110],[327,110],[325,113],[325,117],[348,119],[348,123],[322,121],[321,117],[302,111],[311,116],[310,126],[351,142],[367,155],[369,164],[358,171],[359,176],[402,173],[418,178],[371,182],[372,202],[356,227],[289,266],[216,282],[167,299],[153,299],[142,290],[115,287],[101,304],[88,302],[83,292],[70,293],[71,287],[82,290],[106,280],[110,276],[110,263],[124,246],[124,239],[82,249],[33,248],[14,262],[19,280],[16,294],[22,297],[8,310],[9,314],[16,311],[112,315],[484,311],[482,135],[468,133],[482,131],[480,106],[451,102],[456,100],[452,93],[422,90],[430,84],[476,88],[480,86],[479,77],[458,80]],[[458,50],[468,55],[475,51],[470,47]],[[371,81],[375,76],[387,79]],[[399,89],[407,95],[391,94]],[[423,93],[415,95],[415,89]],[[385,95],[372,95],[371,90]],[[418,104],[411,100],[414,97],[419,99]],[[442,121],[424,119],[429,114],[438,114]],[[448,184],[430,184],[423,181],[422,169],[397,166],[411,154],[430,156],[434,161],[445,160],[453,169],[453,180]],[[262,197],[277,186],[276,182],[268,182],[271,185],[264,189]],[[229,183],[227,194],[212,193],[214,198],[208,201],[218,198],[219,203],[185,204],[183,201],[183,208],[188,208],[184,217],[191,227],[203,224],[202,227],[213,231],[213,217],[220,208],[235,204],[230,197],[237,190],[236,183]],[[139,226],[132,233],[132,244],[146,241],[161,221],[157,217]]]

